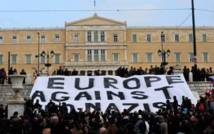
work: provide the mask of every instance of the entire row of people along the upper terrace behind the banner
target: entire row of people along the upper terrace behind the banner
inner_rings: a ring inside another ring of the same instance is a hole
[[[184,77],[187,81],[205,81],[209,80],[209,76],[214,75],[214,71],[212,70],[212,67],[210,68],[198,68],[197,66],[193,66],[190,68],[187,68],[184,66],[182,69],[182,72],[184,74]],[[92,71],[85,72],[86,75],[92,75]],[[144,74],[167,74],[171,75],[174,73],[174,68],[169,67],[168,69],[164,69],[158,66],[150,66],[150,68],[143,69],[142,67],[135,68],[126,68],[126,67],[119,67],[115,71],[116,76],[120,77],[129,77],[133,75],[144,75]],[[10,78],[8,75],[18,74],[17,70],[13,67],[11,67],[8,70],[8,73],[6,73],[4,68],[0,69],[0,84],[4,84],[5,82],[11,83]],[[26,75],[24,69],[20,71],[19,74]],[[106,71],[104,70],[95,70],[93,75],[106,75]],[[113,74],[113,72],[111,72]],[[80,72],[78,72],[76,69],[68,70],[67,68],[64,68],[63,66],[60,66],[57,70],[55,70],[52,75],[65,75],[65,76],[72,76],[72,75],[81,75]],[[85,74],[84,74],[85,75]],[[38,73],[35,71],[33,74],[33,79],[36,79],[38,76]],[[25,82],[25,81],[24,81]]]

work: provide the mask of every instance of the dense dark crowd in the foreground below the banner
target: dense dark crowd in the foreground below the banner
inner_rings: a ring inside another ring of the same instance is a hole
[[[139,110],[119,112],[109,108],[76,110],[62,102],[56,105],[50,100],[45,110],[36,101],[27,100],[22,116],[14,112],[7,118],[7,108],[0,105],[1,134],[213,134],[214,92],[207,92],[196,105],[187,97],[181,105],[177,98],[156,113]]]

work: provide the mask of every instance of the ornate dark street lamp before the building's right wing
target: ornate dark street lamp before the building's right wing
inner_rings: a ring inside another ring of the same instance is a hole
[[[161,65],[160,67],[165,70],[165,66],[168,64],[166,57],[170,55],[170,50],[164,50],[163,43],[165,42],[165,34],[161,32],[161,49],[158,50],[158,55],[161,56]]]

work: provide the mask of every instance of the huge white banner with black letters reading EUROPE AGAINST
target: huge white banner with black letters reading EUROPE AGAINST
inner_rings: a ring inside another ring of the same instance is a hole
[[[130,112],[146,110],[156,112],[169,99],[182,96],[196,99],[183,75],[118,76],[42,76],[38,77],[30,97],[38,99],[43,108],[50,100],[65,102],[75,109],[96,109],[105,112],[110,108]]]

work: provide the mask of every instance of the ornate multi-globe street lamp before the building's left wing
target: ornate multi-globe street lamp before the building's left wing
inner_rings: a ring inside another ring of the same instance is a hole
[[[49,67],[51,67],[51,63],[50,63],[50,59],[53,58],[55,55],[55,52],[52,50],[51,52],[45,52],[45,51],[42,51],[40,53],[40,56],[41,57],[44,57],[47,59],[47,62],[44,63],[45,67],[47,68],[47,73],[49,74]]]

